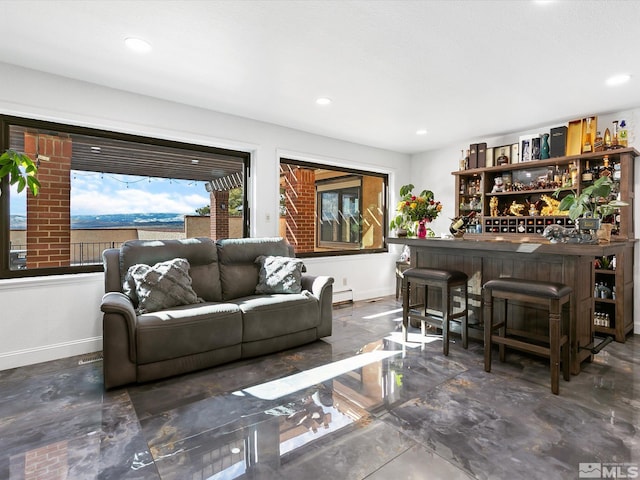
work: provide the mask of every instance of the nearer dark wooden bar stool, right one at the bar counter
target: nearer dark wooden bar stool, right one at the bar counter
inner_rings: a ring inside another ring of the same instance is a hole
[[[551,392],[558,394],[560,358],[562,376],[569,381],[571,365],[571,332],[575,329],[569,308],[571,287],[562,283],[499,278],[489,280],[482,287],[484,317],[484,369],[491,371],[491,346],[500,347],[500,361],[505,361],[505,346],[549,358],[551,367]],[[503,317],[493,323],[494,299],[504,302]],[[522,330],[507,327],[509,302],[520,302],[546,307],[549,312],[549,336],[529,335]],[[565,315],[563,315],[563,312]],[[495,330],[499,330],[495,335]],[[544,345],[541,345],[544,344]]]

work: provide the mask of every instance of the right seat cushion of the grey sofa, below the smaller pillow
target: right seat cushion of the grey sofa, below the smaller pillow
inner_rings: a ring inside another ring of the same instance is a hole
[[[294,294],[256,295],[234,301],[242,311],[242,341],[253,342],[317,327],[318,300],[306,290]]]

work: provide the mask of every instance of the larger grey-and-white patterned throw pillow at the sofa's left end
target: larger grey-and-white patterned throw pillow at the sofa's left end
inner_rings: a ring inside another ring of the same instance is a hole
[[[151,313],[178,305],[202,302],[191,287],[189,261],[174,258],[154,266],[136,264],[129,267],[125,284],[135,284],[137,313]]]

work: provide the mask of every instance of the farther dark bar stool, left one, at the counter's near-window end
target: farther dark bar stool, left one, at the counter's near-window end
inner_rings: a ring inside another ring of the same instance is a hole
[[[458,270],[436,268],[409,268],[405,270],[402,279],[402,336],[404,341],[406,342],[408,337],[409,319],[416,319],[420,321],[423,335],[426,333],[427,324],[442,329],[442,352],[444,355],[449,355],[449,322],[456,320],[461,324],[462,346],[467,348],[469,344],[467,338],[468,280],[467,274]],[[411,287],[420,286],[424,287],[424,303],[412,305]],[[441,316],[428,311],[429,287],[437,287],[441,291]],[[457,313],[454,313],[453,308],[455,289],[459,290],[460,296],[464,298],[464,309]]]

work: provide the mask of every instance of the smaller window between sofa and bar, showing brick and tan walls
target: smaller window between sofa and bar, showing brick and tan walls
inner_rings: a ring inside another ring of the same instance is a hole
[[[386,251],[387,176],[280,160],[280,235],[301,256]]]

